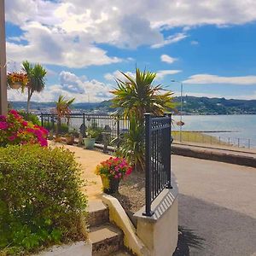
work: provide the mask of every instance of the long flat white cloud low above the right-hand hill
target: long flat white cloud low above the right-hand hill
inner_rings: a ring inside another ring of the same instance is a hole
[[[256,85],[256,76],[221,77],[212,74],[195,74],[183,81],[184,84],[243,84]]]

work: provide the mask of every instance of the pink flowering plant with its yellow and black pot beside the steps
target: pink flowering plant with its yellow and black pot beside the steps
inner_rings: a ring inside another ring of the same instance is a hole
[[[96,166],[96,174],[102,177],[103,192],[113,194],[119,190],[119,181],[130,175],[132,167],[119,157],[110,157]]]

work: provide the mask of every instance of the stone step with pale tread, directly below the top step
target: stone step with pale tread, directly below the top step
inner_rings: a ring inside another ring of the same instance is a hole
[[[113,224],[91,227],[89,239],[92,243],[93,256],[113,255],[123,247],[124,235]]]

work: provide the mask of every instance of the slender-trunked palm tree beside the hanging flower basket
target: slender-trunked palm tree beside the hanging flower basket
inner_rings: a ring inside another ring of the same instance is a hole
[[[34,67],[28,61],[22,62],[22,70],[26,72],[28,77],[27,84],[27,102],[26,113],[30,110],[30,101],[35,91],[41,92],[45,86],[46,70],[40,64],[36,64]]]

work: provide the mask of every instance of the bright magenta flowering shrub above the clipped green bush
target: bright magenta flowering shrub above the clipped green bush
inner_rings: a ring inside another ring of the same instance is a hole
[[[7,116],[0,115],[0,146],[15,144],[35,144],[47,146],[48,131],[23,119],[15,110]]]

